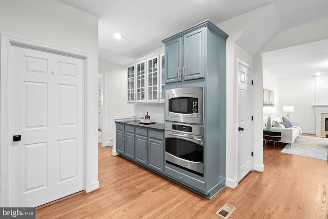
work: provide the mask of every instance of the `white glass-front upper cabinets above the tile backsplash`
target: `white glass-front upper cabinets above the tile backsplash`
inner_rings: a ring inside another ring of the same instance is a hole
[[[162,103],[165,100],[165,55],[163,53],[139,59],[128,67],[128,102]]]

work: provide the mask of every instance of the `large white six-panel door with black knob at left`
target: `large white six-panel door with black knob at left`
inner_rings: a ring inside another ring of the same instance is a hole
[[[10,59],[9,206],[84,190],[84,60],[17,46]]]

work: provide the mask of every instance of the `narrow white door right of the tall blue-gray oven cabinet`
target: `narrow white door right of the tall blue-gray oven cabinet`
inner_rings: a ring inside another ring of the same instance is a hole
[[[238,63],[238,182],[252,170],[253,104],[254,90],[253,70],[246,64]]]

